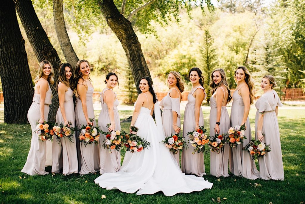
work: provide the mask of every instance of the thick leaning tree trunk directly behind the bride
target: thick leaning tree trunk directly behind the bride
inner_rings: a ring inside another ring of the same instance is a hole
[[[107,24],[117,35],[125,50],[139,94],[142,92],[138,86],[141,78],[150,76],[150,73],[138,37],[131,26],[131,22],[119,12],[113,0],[100,0],[99,6]]]

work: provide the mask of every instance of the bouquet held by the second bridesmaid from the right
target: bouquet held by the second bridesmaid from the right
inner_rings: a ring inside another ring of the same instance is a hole
[[[237,146],[242,143],[245,137],[246,126],[243,124],[242,126],[235,125],[234,128],[228,129],[228,136],[226,137],[226,142],[231,148],[237,148]]]

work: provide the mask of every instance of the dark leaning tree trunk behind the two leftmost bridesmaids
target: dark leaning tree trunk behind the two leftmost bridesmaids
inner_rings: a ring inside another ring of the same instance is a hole
[[[56,50],[50,43],[45,30],[41,26],[32,2],[30,0],[16,1],[16,10],[38,61],[41,62],[43,60],[48,60],[53,65],[55,71],[55,83],[51,85],[53,98],[48,115],[48,121],[55,122],[56,112],[59,107],[56,87],[59,75],[59,65],[61,63],[60,59]]]

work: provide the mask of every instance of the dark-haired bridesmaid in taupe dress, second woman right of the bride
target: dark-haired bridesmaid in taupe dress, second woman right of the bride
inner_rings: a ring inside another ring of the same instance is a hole
[[[184,111],[183,137],[188,141],[188,132],[199,129],[204,125],[201,104],[206,93],[203,88],[202,72],[194,67],[188,72],[188,78],[192,82],[192,89],[188,94],[188,103]],[[195,174],[202,177],[205,175],[204,157],[202,153],[192,154],[194,147],[188,146],[188,149],[182,151],[181,170],[185,174]]]

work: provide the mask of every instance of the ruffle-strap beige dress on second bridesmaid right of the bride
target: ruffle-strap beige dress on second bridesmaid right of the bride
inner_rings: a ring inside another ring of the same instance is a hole
[[[194,131],[196,128],[196,120],[195,120],[195,102],[196,98],[193,96],[193,93],[201,88],[204,91],[202,86],[197,87],[194,91],[188,94],[188,103],[185,106],[184,111],[184,124],[183,124],[183,137],[186,141],[188,141],[189,137],[187,135],[188,132]],[[205,92],[205,91],[204,91]],[[206,97],[206,94],[205,94]],[[202,108],[200,106],[199,112],[199,126],[203,126],[203,113]],[[184,149],[182,151],[181,156],[181,170],[185,174],[195,174],[197,176],[202,177],[205,175],[205,167],[204,167],[204,157],[202,153],[192,154],[195,147],[188,144],[187,150]]]

